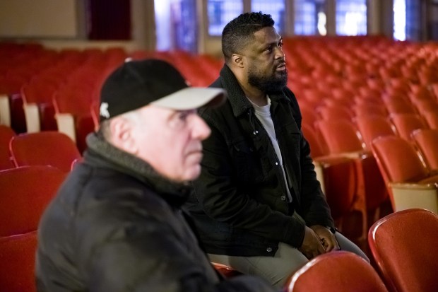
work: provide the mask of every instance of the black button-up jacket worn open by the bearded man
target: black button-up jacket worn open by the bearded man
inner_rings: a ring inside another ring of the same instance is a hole
[[[203,142],[201,175],[186,204],[207,252],[274,255],[278,242],[300,247],[304,225],[292,216],[294,209],[307,226],[333,227],[292,91],[269,93],[290,204],[271,139],[226,65],[212,87],[225,88],[229,98],[218,109],[200,111],[212,132]]]

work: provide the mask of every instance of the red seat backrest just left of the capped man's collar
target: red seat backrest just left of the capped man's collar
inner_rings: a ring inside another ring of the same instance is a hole
[[[13,163],[25,165],[52,165],[69,172],[71,163],[81,158],[76,144],[61,132],[45,131],[20,134],[9,144]]]

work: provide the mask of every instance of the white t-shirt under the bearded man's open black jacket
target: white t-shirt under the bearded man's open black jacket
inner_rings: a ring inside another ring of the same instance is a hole
[[[283,178],[284,178],[285,184],[286,184],[286,192],[288,192],[288,199],[289,199],[289,202],[292,202],[292,196],[290,195],[289,187],[288,187],[288,180],[286,180],[285,169],[283,167],[283,157],[281,156],[280,146],[278,146],[276,129],[274,128],[274,125],[272,122],[271,100],[269,99],[269,97],[267,95],[266,95],[266,98],[268,99],[268,104],[264,105],[262,107],[259,107],[259,105],[252,103],[251,100],[249,100],[249,98],[248,98],[248,100],[251,103],[251,105],[254,107],[254,111],[256,112],[256,117],[259,119],[259,121],[261,122],[263,127],[266,129],[266,132],[268,132],[269,138],[271,138],[273,148],[277,154],[278,165],[281,167],[281,170],[283,171]]]

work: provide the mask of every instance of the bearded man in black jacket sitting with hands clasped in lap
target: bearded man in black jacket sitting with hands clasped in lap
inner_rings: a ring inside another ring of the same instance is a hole
[[[211,261],[278,287],[325,252],[348,250],[369,261],[335,230],[271,16],[230,21],[222,49],[225,66],[211,87],[227,90],[228,100],[199,112],[211,136],[186,204]]]

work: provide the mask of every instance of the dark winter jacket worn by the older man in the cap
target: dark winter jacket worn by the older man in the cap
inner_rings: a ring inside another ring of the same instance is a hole
[[[88,147],[40,222],[38,291],[272,291],[218,276],[179,208],[187,186],[95,134]]]

